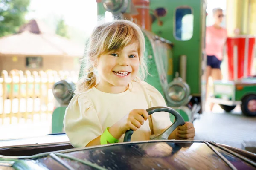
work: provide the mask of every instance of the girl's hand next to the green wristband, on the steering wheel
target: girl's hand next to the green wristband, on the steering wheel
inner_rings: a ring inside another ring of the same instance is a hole
[[[143,118],[143,117],[144,118]],[[127,130],[137,130],[144,124],[144,121],[148,119],[148,112],[144,109],[133,109],[128,115],[122,118],[119,124],[119,130],[121,133],[125,133]]]

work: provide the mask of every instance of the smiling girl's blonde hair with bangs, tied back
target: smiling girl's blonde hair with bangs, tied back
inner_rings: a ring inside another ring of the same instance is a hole
[[[139,75],[134,81],[144,80],[147,73],[145,62],[145,38],[140,27],[128,20],[114,20],[97,26],[89,39],[88,48],[82,59],[81,78],[76,84],[75,93],[85,92],[97,84],[96,66],[100,55],[122,49],[131,43],[138,43],[140,59]]]

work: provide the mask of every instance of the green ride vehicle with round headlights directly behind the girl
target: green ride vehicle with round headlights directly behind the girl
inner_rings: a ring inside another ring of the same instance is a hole
[[[202,112],[201,75],[206,65],[204,0],[96,1],[98,15],[111,13],[115,18],[133,20],[141,26],[149,72],[145,81],[159,90],[167,106],[179,112],[185,121],[194,121]],[[72,82],[65,80],[53,86],[60,107],[52,115],[52,133],[63,132],[64,112],[74,88]],[[172,115],[170,119],[174,121]]]

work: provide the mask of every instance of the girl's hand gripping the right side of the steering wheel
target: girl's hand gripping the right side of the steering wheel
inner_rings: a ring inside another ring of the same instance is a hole
[[[177,127],[176,139],[194,140],[195,128],[191,122],[186,122],[182,126]]]

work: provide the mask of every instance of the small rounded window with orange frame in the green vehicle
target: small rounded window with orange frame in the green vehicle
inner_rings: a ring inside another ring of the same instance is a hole
[[[179,7],[175,11],[175,38],[190,40],[193,36],[194,15],[190,7]]]

